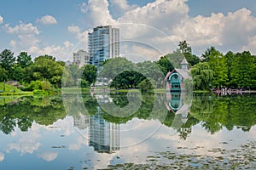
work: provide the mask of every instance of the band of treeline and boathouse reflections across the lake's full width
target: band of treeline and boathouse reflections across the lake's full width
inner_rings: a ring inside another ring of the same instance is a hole
[[[157,120],[177,130],[180,127],[192,127],[202,122],[202,127],[209,133],[217,133],[223,127],[228,130],[237,127],[248,132],[256,124],[256,98],[253,94],[216,97],[211,94],[197,94],[193,96],[193,99],[188,99],[183,93],[155,95],[158,97],[154,98],[154,95],[150,94],[143,95],[139,110],[126,117],[113,116],[102,110],[97,100],[104,103],[112,102],[122,108],[129,103],[125,94],[111,94],[108,98],[99,95],[84,95],[83,100],[68,96],[71,105],[68,107],[65,105],[66,111],[69,110],[67,112],[64,110],[61,97],[2,98],[0,99],[0,130],[9,134],[15,131],[15,127],[19,127],[21,131],[26,132],[32,126],[32,122],[51,125],[58,119],[65,118],[67,113],[73,116],[74,126],[79,129],[89,127],[93,116],[115,124],[129,122],[136,117],[144,120]],[[154,103],[157,102],[159,104],[155,109]],[[89,113],[83,111],[79,105],[84,105]],[[176,126],[176,123],[180,126]]]

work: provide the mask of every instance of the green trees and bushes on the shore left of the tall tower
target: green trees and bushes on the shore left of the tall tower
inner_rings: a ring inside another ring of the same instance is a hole
[[[96,67],[85,65],[65,66],[50,55],[41,55],[32,61],[31,55],[21,52],[17,57],[9,49],[0,54],[0,82],[15,80],[23,90],[50,90],[85,84],[88,88],[96,80]]]

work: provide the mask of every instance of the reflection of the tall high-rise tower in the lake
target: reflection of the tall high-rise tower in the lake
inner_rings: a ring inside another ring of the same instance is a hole
[[[106,122],[100,107],[97,107],[97,114],[90,117],[89,145],[99,153],[119,150],[119,124]]]

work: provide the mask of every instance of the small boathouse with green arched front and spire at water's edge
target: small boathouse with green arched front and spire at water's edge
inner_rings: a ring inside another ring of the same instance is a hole
[[[173,71],[169,71],[166,75],[166,89],[170,90],[171,92],[179,92],[184,91],[184,80],[189,79],[189,69],[188,69],[188,61],[187,59],[183,58],[181,62],[181,69],[174,69]]]

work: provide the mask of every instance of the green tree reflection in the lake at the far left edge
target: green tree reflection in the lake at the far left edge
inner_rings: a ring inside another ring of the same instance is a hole
[[[0,105],[0,129],[11,133],[15,127],[27,131],[35,121],[41,125],[51,125],[66,116],[61,98],[23,98],[6,105]]]

